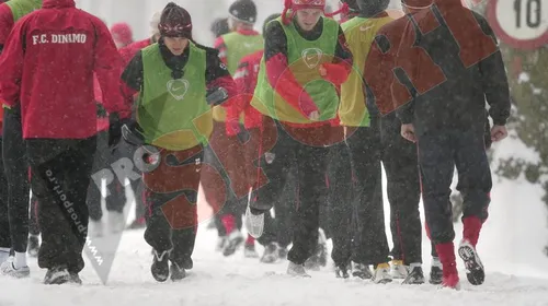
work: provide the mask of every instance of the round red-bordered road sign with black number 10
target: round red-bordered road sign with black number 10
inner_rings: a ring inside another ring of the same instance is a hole
[[[506,45],[534,50],[548,45],[548,1],[489,0],[487,16]]]

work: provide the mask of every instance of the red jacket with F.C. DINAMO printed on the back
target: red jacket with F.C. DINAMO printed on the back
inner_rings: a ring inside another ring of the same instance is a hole
[[[103,105],[130,115],[119,91],[122,60],[109,28],[73,0],[44,0],[18,22],[0,58],[0,99],[21,104],[23,138],[85,139],[96,133],[93,72]]]

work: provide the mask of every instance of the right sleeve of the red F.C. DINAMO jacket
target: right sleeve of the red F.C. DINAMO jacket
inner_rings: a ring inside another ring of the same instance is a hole
[[[109,28],[102,22],[94,25],[98,34],[94,71],[103,92],[102,104],[109,114],[118,113],[119,118],[128,118],[132,115],[132,106],[124,103],[119,91],[122,58]]]

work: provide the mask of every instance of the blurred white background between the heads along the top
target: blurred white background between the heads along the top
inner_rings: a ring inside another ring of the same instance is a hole
[[[214,42],[209,27],[217,17],[225,17],[233,0],[173,0],[189,10],[194,24],[194,38],[204,45]],[[150,34],[149,21],[161,11],[169,0],[76,0],[77,7],[101,17],[106,25],[126,22],[132,26],[134,39],[145,39]],[[254,0],[258,7],[255,30],[261,31],[263,21],[273,13],[281,13],[284,0]],[[339,0],[328,0],[329,5],[339,9]],[[391,8],[399,8],[399,0],[391,0]]]

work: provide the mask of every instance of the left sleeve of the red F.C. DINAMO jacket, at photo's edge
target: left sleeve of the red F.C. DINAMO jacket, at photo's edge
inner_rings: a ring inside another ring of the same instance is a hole
[[[0,99],[9,107],[18,105],[21,96],[21,79],[23,76],[23,30],[26,22],[15,24],[8,37],[0,56]]]

